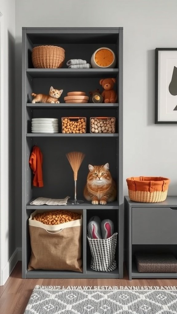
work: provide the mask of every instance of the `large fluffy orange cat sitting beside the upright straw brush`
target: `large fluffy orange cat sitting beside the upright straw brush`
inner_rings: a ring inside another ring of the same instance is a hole
[[[105,205],[116,199],[116,183],[112,180],[109,172],[109,164],[102,166],[88,165],[90,172],[87,176],[87,183],[84,187],[83,195],[92,204]]]

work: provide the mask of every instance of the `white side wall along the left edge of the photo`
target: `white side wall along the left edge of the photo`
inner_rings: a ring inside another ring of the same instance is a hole
[[[0,108],[0,284],[4,284],[14,267],[14,63],[15,63],[15,2],[0,2],[1,17],[1,108]]]

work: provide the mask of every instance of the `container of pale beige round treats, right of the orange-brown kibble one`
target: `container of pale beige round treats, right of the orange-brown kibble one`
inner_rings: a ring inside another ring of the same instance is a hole
[[[91,117],[90,133],[115,133],[114,117]]]

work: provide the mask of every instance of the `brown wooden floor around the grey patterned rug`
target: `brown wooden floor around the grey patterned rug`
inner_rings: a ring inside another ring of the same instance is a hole
[[[0,314],[23,314],[35,285],[45,286],[177,286],[177,279],[21,279],[18,262],[9,279],[0,286]]]

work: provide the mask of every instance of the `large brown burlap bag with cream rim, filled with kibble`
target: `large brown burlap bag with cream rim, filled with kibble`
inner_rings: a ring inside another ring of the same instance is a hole
[[[29,218],[29,232],[31,241],[31,258],[28,270],[71,270],[82,272],[81,259],[81,219],[59,225],[44,225],[32,220],[36,210]],[[79,210],[78,210],[79,212]]]

